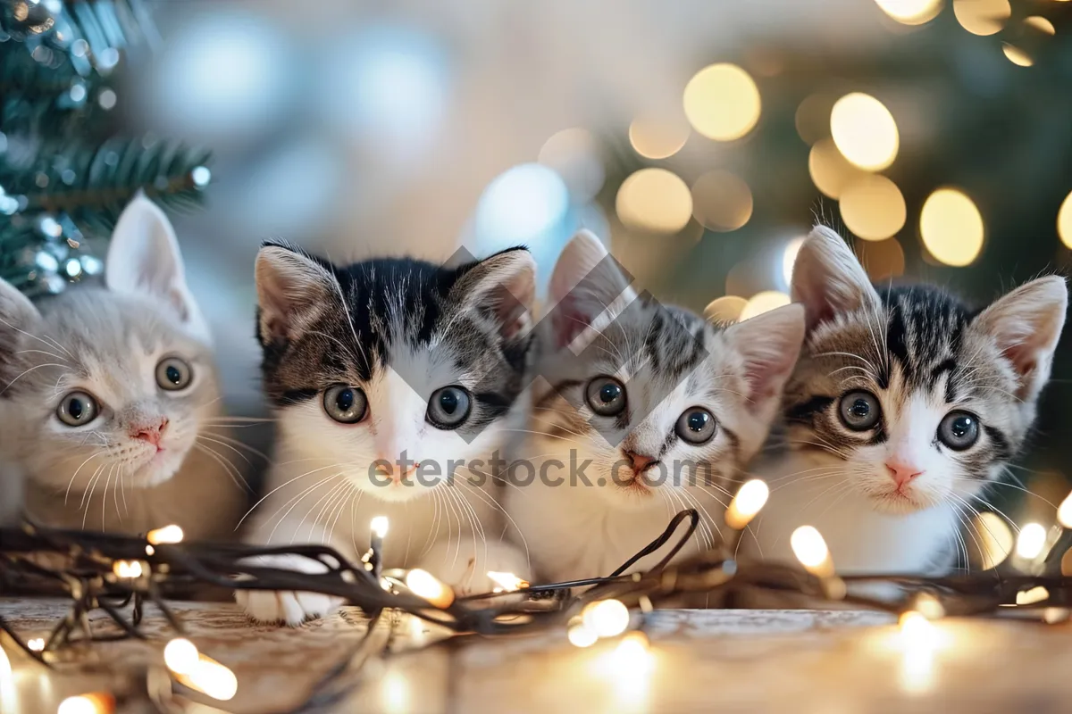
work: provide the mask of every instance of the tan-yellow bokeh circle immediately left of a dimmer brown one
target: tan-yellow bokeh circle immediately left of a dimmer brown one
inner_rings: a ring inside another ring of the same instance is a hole
[[[642,168],[617,189],[617,217],[626,228],[676,233],[693,217],[693,194],[681,178],[662,168]]]

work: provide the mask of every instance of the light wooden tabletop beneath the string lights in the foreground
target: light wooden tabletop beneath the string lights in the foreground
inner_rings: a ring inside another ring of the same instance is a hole
[[[238,696],[226,711],[266,714],[301,701],[364,631],[345,610],[298,629],[254,626],[233,605],[177,604],[202,652],[232,668]],[[0,599],[25,638],[63,612],[56,602]],[[103,626],[103,624],[102,624]],[[892,619],[870,612],[665,610],[647,616],[647,657],[619,642],[578,649],[562,632],[517,639],[456,639],[398,652],[363,670],[366,684],[340,712],[1070,712],[1072,627],[1010,621],[939,623],[927,647],[906,650]],[[396,649],[434,638],[408,619]],[[43,672],[12,655],[0,668],[2,714],[55,712],[63,697],[122,692],[146,666],[159,671],[173,636],[150,611],[149,641],[96,643]],[[11,654],[10,643],[5,648]],[[110,673],[109,673],[110,672]],[[131,702],[120,712],[149,711]],[[200,710],[208,712],[213,710]]]

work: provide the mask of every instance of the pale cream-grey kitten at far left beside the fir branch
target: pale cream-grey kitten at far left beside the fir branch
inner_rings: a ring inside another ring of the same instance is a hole
[[[0,282],[0,481],[32,520],[228,535],[243,493],[219,399],[175,233],[144,196],[116,225],[104,287],[35,306]]]

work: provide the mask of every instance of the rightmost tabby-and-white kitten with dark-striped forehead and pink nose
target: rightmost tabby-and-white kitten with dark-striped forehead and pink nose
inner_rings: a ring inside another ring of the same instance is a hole
[[[786,388],[790,451],[746,547],[792,560],[816,527],[845,573],[948,569],[957,528],[1023,445],[1064,323],[1041,277],[972,312],[929,286],[876,289],[834,231],[796,258],[808,337]],[[963,541],[961,541],[963,547]]]

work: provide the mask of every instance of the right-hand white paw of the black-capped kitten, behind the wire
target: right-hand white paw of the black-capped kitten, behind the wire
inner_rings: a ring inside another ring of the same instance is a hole
[[[421,559],[418,567],[428,571],[450,586],[460,596],[491,592],[500,587],[488,572],[512,573],[527,580],[528,561],[520,548],[509,543],[491,541],[485,544],[463,536],[461,542],[440,542]]]

